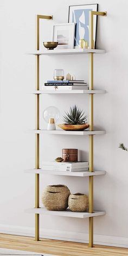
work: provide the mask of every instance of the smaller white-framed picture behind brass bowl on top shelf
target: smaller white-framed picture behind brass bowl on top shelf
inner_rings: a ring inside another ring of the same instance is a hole
[[[62,23],[53,26],[53,41],[59,42],[57,48],[74,48],[75,23]]]

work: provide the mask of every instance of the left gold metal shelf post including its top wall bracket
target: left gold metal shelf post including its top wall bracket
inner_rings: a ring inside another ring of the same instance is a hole
[[[36,16],[36,50],[39,50],[40,44],[40,19],[52,20],[53,16],[37,15]],[[36,86],[35,89],[40,89],[40,55],[36,55]],[[35,129],[40,129],[40,96],[36,97],[36,123]],[[40,168],[40,135],[35,135],[35,169]],[[39,191],[39,174],[35,174],[35,208],[40,207],[40,191]],[[39,214],[35,214],[35,240],[39,241]]]

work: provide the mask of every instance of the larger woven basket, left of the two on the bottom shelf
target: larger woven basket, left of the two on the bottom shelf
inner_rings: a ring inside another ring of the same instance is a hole
[[[66,185],[49,185],[43,191],[42,203],[47,210],[66,210],[70,194]]]

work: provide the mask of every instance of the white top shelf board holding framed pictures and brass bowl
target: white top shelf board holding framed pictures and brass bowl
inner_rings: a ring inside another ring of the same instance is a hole
[[[35,50],[34,52],[28,52],[32,55],[65,55],[65,54],[87,54],[87,53],[105,53],[105,50],[99,49],[54,49],[54,50]]]

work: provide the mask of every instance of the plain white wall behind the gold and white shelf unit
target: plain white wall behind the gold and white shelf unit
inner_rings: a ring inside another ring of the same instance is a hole
[[[25,52],[35,49],[35,15],[53,14],[53,21],[43,21],[42,41],[52,40],[53,23],[68,20],[68,6],[95,1],[1,0],[0,2],[0,120],[1,120],[1,232],[34,234],[34,216],[24,208],[34,206],[34,176],[24,169],[34,168],[34,135],[24,133],[34,128],[35,98],[29,93],[35,86],[35,57]],[[98,244],[126,246],[127,231],[127,8],[126,0],[99,0],[97,46],[106,54],[94,56],[94,86],[106,89],[105,95],[94,97],[94,126],[106,129],[106,135],[94,138],[94,168],[107,174],[94,178],[94,208],[106,210],[106,215],[94,219],[94,240]],[[88,56],[45,56],[41,61],[41,85],[53,77],[55,68],[65,69],[78,79],[88,81]],[[43,95],[42,110],[54,105],[63,112],[77,104],[88,114],[85,95]],[[41,127],[42,127],[41,115]],[[44,123],[44,126],[46,124]],[[44,127],[43,126],[43,127]],[[78,148],[80,159],[88,159],[88,138],[42,136],[41,158],[52,160],[62,148]],[[42,157],[43,156],[43,157]],[[41,177],[42,188],[47,184],[63,183],[73,193],[88,193],[87,178]],[[43,236],[87,241],[88,221],[62,217],[41,217]],[[42,230],[42,229],[41,229]]]

